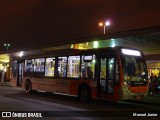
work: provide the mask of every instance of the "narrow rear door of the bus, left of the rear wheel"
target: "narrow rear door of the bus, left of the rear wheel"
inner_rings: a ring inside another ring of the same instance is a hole
[[[23,78],[24,62],[18,63],[17,86],[21,86]]]

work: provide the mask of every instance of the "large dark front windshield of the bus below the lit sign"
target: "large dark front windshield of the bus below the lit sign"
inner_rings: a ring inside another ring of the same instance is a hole
[[[141,57],[123,56],[124,82],[130,86],[147,85],[147,66]]]

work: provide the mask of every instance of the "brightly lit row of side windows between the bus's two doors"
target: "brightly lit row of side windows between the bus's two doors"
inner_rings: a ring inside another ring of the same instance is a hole
[[[25,72],[45,72],[46,77],[54,77],[54,73],[57,73],[57,77],[70,77],[70,78],[88,78],[89,77],[89,70],[92,72],[92,77],[94,76],[94,65],[95,65],[95,56],[82,56],[81,61],[81,69],[82,72],[80,73],[80,56],[69,56],[68,57],[68,64],[67,64],[67,57],[58,57],[58,69],[57,72],[55,69],[55,57],[46,58],[37,58],[37,59],[29,59],[25,60]],[[88,60],[88,62],[84,62]],[[90,61],[90,60],[93,61]],[[45,65],[44,65],[45,64]],[[68,67],[67,67],[68,65]],[[67,68],[67,70],[66,70]],[[88,71],[86,72],[85,70]],[[66,71],[68,71],[66,73]]]

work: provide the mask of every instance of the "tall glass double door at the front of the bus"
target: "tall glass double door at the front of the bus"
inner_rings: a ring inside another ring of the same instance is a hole
[[[114,94],[114,63],[113,57],[100,57],[98,93],[101,97]]]

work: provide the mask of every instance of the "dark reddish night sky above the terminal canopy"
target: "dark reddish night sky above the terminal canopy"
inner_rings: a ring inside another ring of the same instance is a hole
[[[10,49],[45,46],[160,25],[160,0],[0,0],[0,44]]]

